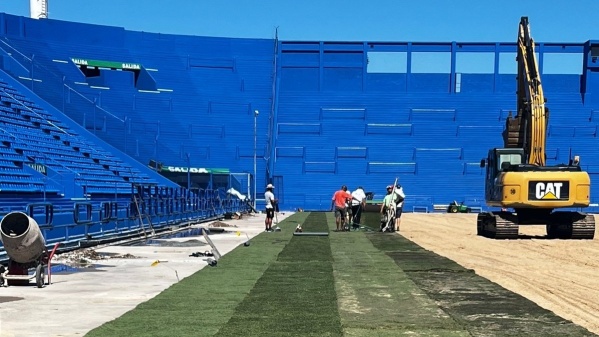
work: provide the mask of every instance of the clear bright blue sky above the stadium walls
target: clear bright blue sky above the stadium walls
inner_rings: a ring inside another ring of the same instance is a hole
[[[29,16],[29,1],[0,0],[0,11]],[[278,26],[283,40],[423,42],[514,42],[528,16],[536,41],[599,40],[598,0],[50,0],[49,12],[147,32],[272,38]],[[557,65],[576,72],[580,60]]]

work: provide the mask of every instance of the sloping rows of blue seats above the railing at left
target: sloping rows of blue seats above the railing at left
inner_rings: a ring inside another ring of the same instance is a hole
[[[59,179],[63,189],[51,187],[46,193],[60,192],[66,197],[130,194],[132,183],[158,183],[101,146],[90,143],[1,79],[0,100],[3,158],[13,160],[17,171],[11,174],[19,173],[18,181],[8,181],[10,186],[2,186],[3,191],[44,190],[45,184],[39,177],[42,173],[33,176],[25,172],[25,166],[41,169],[50,180]],[[69,182],[74,182],[82,192],[76,194]]]

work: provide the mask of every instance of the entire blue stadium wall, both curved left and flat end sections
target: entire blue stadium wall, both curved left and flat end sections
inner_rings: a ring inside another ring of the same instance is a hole
[[[4,56],[8,72],[41,79],[43,85],[33,83],[38,95],[143,164],[253,172],[253,110],[260,110],[259,196],[272,181],[286,209],[328,209],[342,184],[381,197],[396,177],[409,195],[407,211],[454,199],[481,206],[478,163],[502,146],[505,118],[516,106],[515,74],[500,62],[507,55],[515,69],[514,43],[195,37],[10,15],[0,15],[0,34],[6,42],[0,47],[12,55]],[[537,46],[542,69],[546,55],[582,55],[578,74],[543,74],[551,110],[547,155],[550,164],[581,155],[593,180],[594,45]],[[373,53],[401,54],[403,65],[394,73],[374,71]],[[423,62],[428,53],[446,62]],[[469,53],[490,55],[488,71],[461,70],[459,57]],[[131,62],[142,70],[137,84],[130,72],[86,79],[70,58]],[[598,198],[593,184],[592,201]]]

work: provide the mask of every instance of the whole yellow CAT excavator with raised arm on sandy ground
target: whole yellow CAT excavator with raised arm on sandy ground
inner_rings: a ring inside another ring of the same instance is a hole
[[[545,225],[549,238],[593,239],[592,215],[556,210],[588,207],[591,181],[578,156],[568,164],[545,163],[549,109],[545,107],[528,17],[520,19],[517,47],[517,114],[513,117],[510,112],[507,117],[502,133],[504,147],[489,150],[487,158],[481,160],[481,167],[486,167],[486,204],[501,211],[479,213],[477,234],[517,239],[519,225]]]

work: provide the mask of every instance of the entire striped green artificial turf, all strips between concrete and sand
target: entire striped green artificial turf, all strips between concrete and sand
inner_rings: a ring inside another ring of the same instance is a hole
[[[87,336],[594,336],[397,233],[323,212],[280,227]]]

